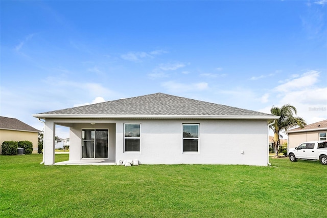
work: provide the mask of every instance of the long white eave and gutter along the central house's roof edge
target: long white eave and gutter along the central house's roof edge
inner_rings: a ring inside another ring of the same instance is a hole
[[[273,115],[102,115],[102,114],[33,114],[33,117],[45,118],[95,118],[95,119],[245,119],[245,120],[271,120],[278,119]]]

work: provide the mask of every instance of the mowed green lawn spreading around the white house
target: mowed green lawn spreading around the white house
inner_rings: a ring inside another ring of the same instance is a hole
[[[68,155],[56,155],[56,161]],[[0,217],[326,217],[327,166],[44,166],[0,156]]]

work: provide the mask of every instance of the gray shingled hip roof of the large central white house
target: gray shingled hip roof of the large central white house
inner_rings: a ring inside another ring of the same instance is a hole
[[[237,107],[156,93],[33,115],[272,116]],[[68,117],[68,116],[65,116]],[[273,119],[273,118],[272,118]]]

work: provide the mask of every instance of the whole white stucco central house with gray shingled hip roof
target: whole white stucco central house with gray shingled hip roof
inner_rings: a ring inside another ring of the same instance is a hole
[[[33,115],[45,120],[44,164],[55,126],[69,127],[67,163],[138,159],[143,164],[268,162],[267,120],[278,116],[162,93]]]

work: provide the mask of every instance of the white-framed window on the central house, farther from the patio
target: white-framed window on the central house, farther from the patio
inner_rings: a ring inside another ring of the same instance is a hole
[[[183,152],[198,152],[199,124],[183,124]]]

